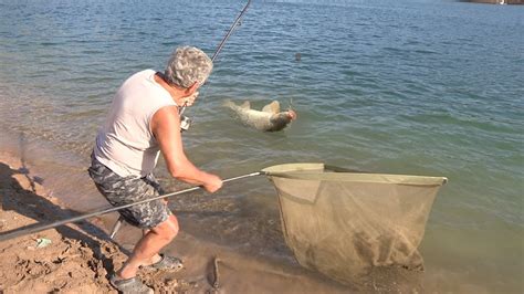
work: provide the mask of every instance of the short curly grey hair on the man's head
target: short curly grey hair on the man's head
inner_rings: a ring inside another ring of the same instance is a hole
[[[213,69],[211,59],[200,49],[179,46],[172,52],[164,75],[167,82],[190,87],[195,82],[203,84]]]

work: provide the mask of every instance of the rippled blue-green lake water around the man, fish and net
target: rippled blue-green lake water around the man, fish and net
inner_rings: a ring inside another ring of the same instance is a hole
[[[211,55],[243,3],[0,0],[2,137],[23,134],[49,146],[49,166],[67,158],[81,172],[120,83],[163,70],[179,44]],[[522,293],[523,28],[522,6],[254,1],[187,111],[187,154],[223,178],[301,161],[446,176],[420,248],[428,288]],[[233,120],[226,98],[277,99],[298,119],[260,133]],[[202,238],[279,254],[274,196],[256,178],[175,209]]]

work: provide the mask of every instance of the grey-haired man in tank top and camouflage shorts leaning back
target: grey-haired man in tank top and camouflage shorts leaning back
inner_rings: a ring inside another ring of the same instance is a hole
[[[182,181],[203,186],[209,192],[222,187],[222,180],[207,174],[186,157],[180,135],[178,107],[190,106],[212,70],[201,50],[178,48],[164,73],[146,70],[127,78],[111,106],[96,137],[90,176],[101,193],[120,206],[163,195],[153,177],[161,151],[169,174]],[[182,267],[179,259],[159,254],[178,233],[178,222],[167,201],[156,200],[120,210],[127,222],[144,230],[133,254],[111,277],[123,293],[153,293],[136,276],[139,267]]]

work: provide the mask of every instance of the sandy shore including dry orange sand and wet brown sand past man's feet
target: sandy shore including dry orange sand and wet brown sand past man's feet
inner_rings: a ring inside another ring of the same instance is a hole
[[[0,231],[78,214],[64,207],[32,174],[31,162],[0,151]],[[133,248],[135,228],[119,232],[122,244],[107,237],[115,214],[0,242],[0,292],[116,293],[107,282]],[[297,264],[248,256],[181,232],[174,241],[186,264],[181,273],[142,272],[157,293],[347,293],[352,287]],[[218,256],[218,284],[213,260]]]

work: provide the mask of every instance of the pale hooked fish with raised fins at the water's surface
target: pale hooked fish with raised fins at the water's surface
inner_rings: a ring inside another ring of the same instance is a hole
[[[277,101],[265,105],[262,111],[251,109],[249,101],[242,105],[237,105],[232,101],[227,99],[223,105],[230,108],[242,124],[263,132],[282,130],[292,120],[296,119],[294,111],[281,112]]]

